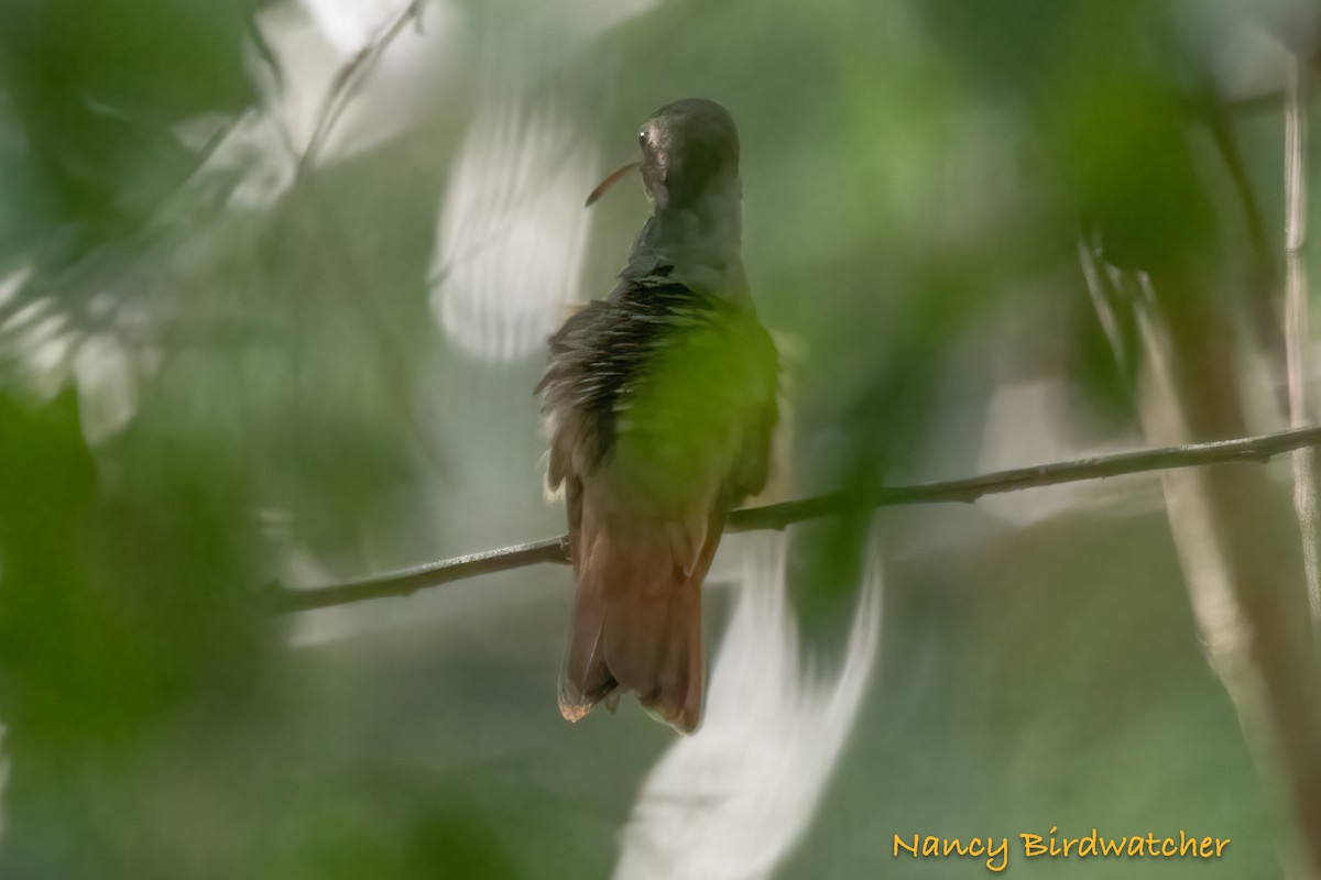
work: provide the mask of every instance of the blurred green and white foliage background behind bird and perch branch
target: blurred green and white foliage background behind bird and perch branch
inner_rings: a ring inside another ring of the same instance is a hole
[[[684,740],[560,719],[563,567],[269,591],[563,530],[531,388],[646,214],[583,199],[683,96],[742,136],[778,497],[1283,427],[1318,21],[5,0],[0,876],[987,873],[894,834],[1009,836],[1003,876],[1317,876],[1288,459],[732,536]],[[1052,826],[1232,843],[1024,860]]]

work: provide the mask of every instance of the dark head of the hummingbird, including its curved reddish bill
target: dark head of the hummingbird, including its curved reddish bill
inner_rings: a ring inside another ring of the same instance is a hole
[[[657,211],[691,208],[708,193],[737,198],[738,129],[729,111],[713,100],[686,98],[666,104],[642,123],[638,146],[642,160],[605,178],[588,204],[635,168]]]

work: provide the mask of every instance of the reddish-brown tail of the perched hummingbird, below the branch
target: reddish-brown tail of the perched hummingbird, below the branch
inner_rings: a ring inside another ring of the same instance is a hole
[[[560,676],[560,712],[584,718],[633,691],[682,732],[701,722],[701,582],[723,516],[688,524],[597,516],[588,501],[572,534],[577,594]]]

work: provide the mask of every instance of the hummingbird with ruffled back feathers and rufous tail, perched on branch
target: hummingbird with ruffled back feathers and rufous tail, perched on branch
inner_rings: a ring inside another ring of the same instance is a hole
[[[559,682],[577,722],[634,693],[658,720],[701,722],[701,583],[725,517],[762,491],[778,356],[744,272],[738,132],[711,100],[638,132],[651,214],[605,299],[550,339],[536,387],[563,492],[576,592]]]

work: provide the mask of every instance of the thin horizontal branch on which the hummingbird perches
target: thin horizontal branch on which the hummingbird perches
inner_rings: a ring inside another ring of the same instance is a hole
[[[756,532],[761,529],[783,529],[794,522],[835,516],[849,511],[876,507],[897,507],[902,504],[939,504],[946,501],[972,503],[984,495],[1017,492],[1018,489],[1061,483],[1096,480],[1125,474],[1145,474],[1180,467],[1203,467],[1206,464],[1227,464],[1234,462],[1266,462],[1281,453],[1297,449],[1321,446],[1321,426],[1300,427],[1276,434],[1244,437],[1211,443],[1192,443],[1165,449],[1137,450],[1085,458],[1075,462],[1055,462],[1018,467],[1009,471],[996,471],[982,476],[942,483],[917,483],[914,486],[888,486],[864,492],[836,492],[819,495],[797,501],[768,504],[765,507],[744,508],[729,515],[727,532]],[[407,596],[427,587],[473,578],[480,574],[509,571],[539,562],[568,562],[568,540],[565,537],[544,538],[517,544],[509,548],[485,550],[453,559],[441,559],[415,569],[391,571],[387,574],[326,587],[289,588],[272,584],[269,588],[271,612],[291,613],[343,606],[369,599]]]

